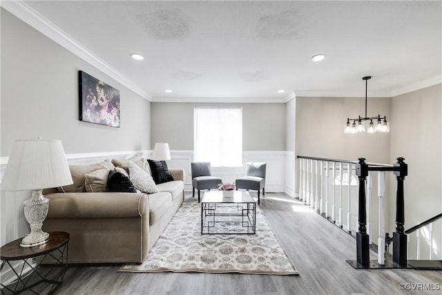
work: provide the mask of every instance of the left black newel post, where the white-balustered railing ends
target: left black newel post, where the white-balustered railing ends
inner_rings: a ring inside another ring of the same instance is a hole
[[[359,158],[356,164],[356,175],[359,180],[358,232],[356,233],[356,257],[358,266],[369,267],[369,236],[367,234],[367,210],[365,209],[365,180],[368,176],[368,165],[365,158]]]

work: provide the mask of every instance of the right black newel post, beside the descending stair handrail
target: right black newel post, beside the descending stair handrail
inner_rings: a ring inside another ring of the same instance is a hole
[[[408,165],[403,162],[404,158],[397,158],[398,162],[394,171],[398,188],[396,191],[396,231],[393,233],[393,263],[400,266],[407,266],[407,235],[404,233],[405,208],[403,198],[403,180],[408,173]]]

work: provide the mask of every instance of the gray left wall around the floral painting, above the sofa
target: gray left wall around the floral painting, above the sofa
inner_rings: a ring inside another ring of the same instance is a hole
[[[121,128],[78,120],[77,71],[120,91]],[[66,153],[149,149],[150,102],[1,9],[1,156],[17,138],[59,139]]]

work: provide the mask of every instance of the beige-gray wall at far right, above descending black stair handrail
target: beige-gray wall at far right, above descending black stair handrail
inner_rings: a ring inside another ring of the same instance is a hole
[[[401,156],[408,164],[404,182],[405,229],[442,212],[441,108],[442,84],[392,98],[391,161]],[[392,182],[390,194],[396,191],[396,183]],[[394,200],[390,199],[390,224],[394,222],[394,206]],[[437,257],[441,259],[440,221],[434,228],[432,242],[436,246]],[[410,245],[415,247],[411,241]],[[428,257],[425,255],[428,249],[428,245],[423,247],[424,259]]]

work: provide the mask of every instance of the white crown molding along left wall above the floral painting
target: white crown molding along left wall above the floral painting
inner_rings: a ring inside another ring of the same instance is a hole
[[[63,46],[74,55],[77,55],[77,57],[84,59],[88,64],[95,66],[95,68],[101,70],[123,86],[126,86],[131,89],[131,91],[151,101],[151,95],[146,93],[146,91],[133,84],[130,79],[126,78],[122,73],[119,73],[118,70],[107,64],[106,61],[97,57],[92,51],[81,45],[79,41],[55,26],[54,23],[48,21],[48,19],[40,15],[39,12],[28,6],[28,4],[23,1],[3,0],[0,5],[12,13],[12,15],[15,15],[15,17],[21,19],[21,21],[24,21],[32,28],[35,28],[35,30],[41,32],[41,34],[55,41],[60,46]]]

